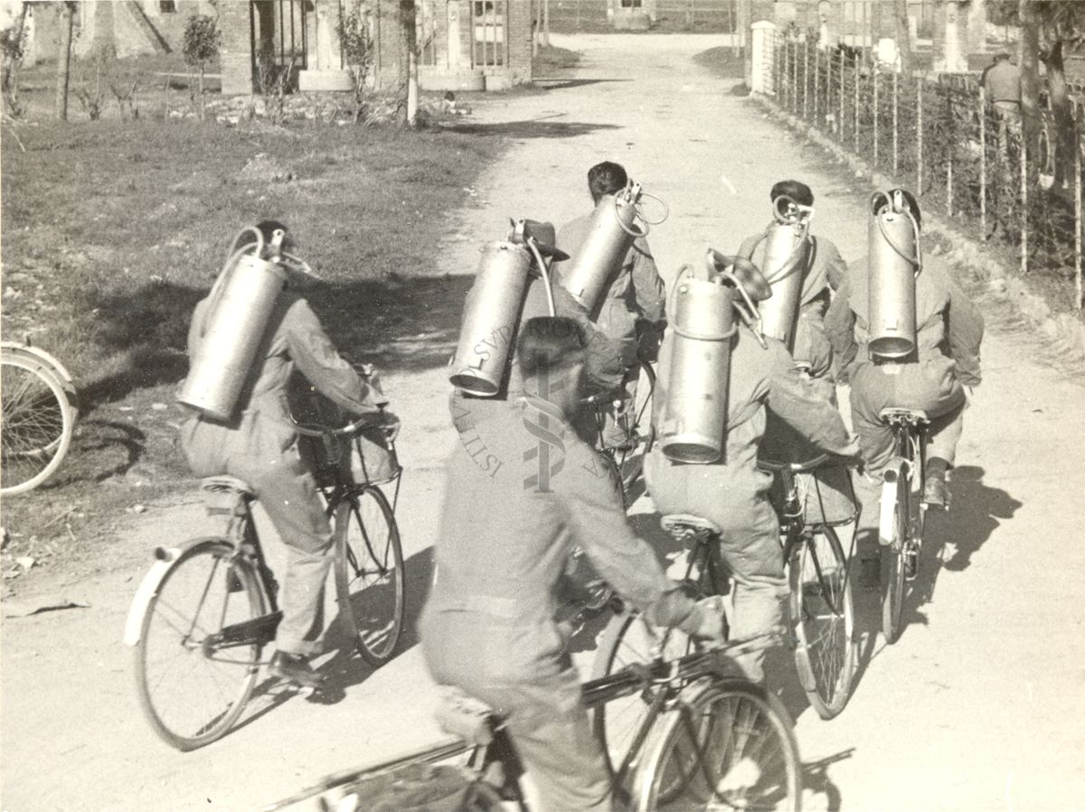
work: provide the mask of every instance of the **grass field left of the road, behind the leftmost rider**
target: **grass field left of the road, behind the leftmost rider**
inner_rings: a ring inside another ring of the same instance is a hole
[[[94,555],[137,504],[191,484],[175,447],[189,317],[245,224],[283,219],[323,280],[309,297],[346,355],[444,363],[413,337],[457,323],[435,255],[499,137],[253,121],[17,126],[2,141],[4,339],[58,356],[81,394],[55,477],[4,500],[13,556]],[[5,128],[7,129],[7,128]],[[464,269],[471,270],[471,269]],[[78,542],[78,543],[76,543]]]

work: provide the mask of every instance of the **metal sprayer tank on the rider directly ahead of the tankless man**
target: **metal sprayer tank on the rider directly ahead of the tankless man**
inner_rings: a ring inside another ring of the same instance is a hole
[[[553,248],[553,243],[550,223],[514,220],[507,240],[483,246],[478,272],[463,306],[460,341],[450,364],[454,372],[448,379],[452,386],[481,397],[493,397],[501,390],[533,259],[546,282],[550,313],[554,313],[549,266],[542,257],[560,260],[567,259],[567,255]]]

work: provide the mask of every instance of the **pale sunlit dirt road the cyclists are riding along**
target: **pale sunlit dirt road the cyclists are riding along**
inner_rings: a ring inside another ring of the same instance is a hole
[[[669,204],[650,235],[665,278],[704,246],[735,248],[763,228],[768,189],[788,176],[814,188],[817,233],[845,258],[865,252],[866,186],[698,68],[691,57],[715,39],[554,40],[584,53],[575,74],[544,93],[487,98],[463,121],[515,145],[465,194],[441,271],[473,273],[478,246],[500,239],[509,217],[560,223],[586,211],[585,171],[604,158]],[[813,808],[1075,810],[1085,797],[1085,385],[1037,361],[1026,331],[994,322],[953,511],[930,521],[923,600],[910,605],[902,640],[886,648],[865,635],[855,695],[832,722],[777,678],[804,760],[822,762],[808,775]],[[413,617],[455,434],[443,369],[391,370],[386,379],[406,426],[399,516]],[[634,507],[650,511],[647,500]],[[434,736],[432,685],[408,632],[405,652],[375,673],[333,655],[339,692],[326,704],[268,697],[248,723],[193,753],[158,742],[139,714],[122,628],[144,551],[202,524],[194,503],[151,510],[131,526],[115,572],[41,584],[88,608],[4,620],[3,809],[253,809]]]

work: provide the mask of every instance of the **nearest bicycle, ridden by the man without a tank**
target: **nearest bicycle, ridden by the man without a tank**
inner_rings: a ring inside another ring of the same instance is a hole
[[[653,810],[799,810],[801,762],[780,700],[741,675],[732,656],[779,642],[778,631],[723,648],[637,663],[582,686],[588,708],[639,695],[648,710],[629,756],[612,775],[616,799]],[[432,807],[527,810],[523,769],[501,719],[459,689],[446,689],[437,711],[456,734],[372,766],[331,775],[267,812],[317,797],[321,809]],[[463,768],[433,766],[471,753]],[[363,804],[363,805],[360,805]]]

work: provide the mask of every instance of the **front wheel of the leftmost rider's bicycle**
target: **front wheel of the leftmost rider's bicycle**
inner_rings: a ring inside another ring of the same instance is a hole
[[[404,623],[399,527],[380,488],[367,486],[335,507],[335,590],[340,617],[358,654],[387,662]]]

